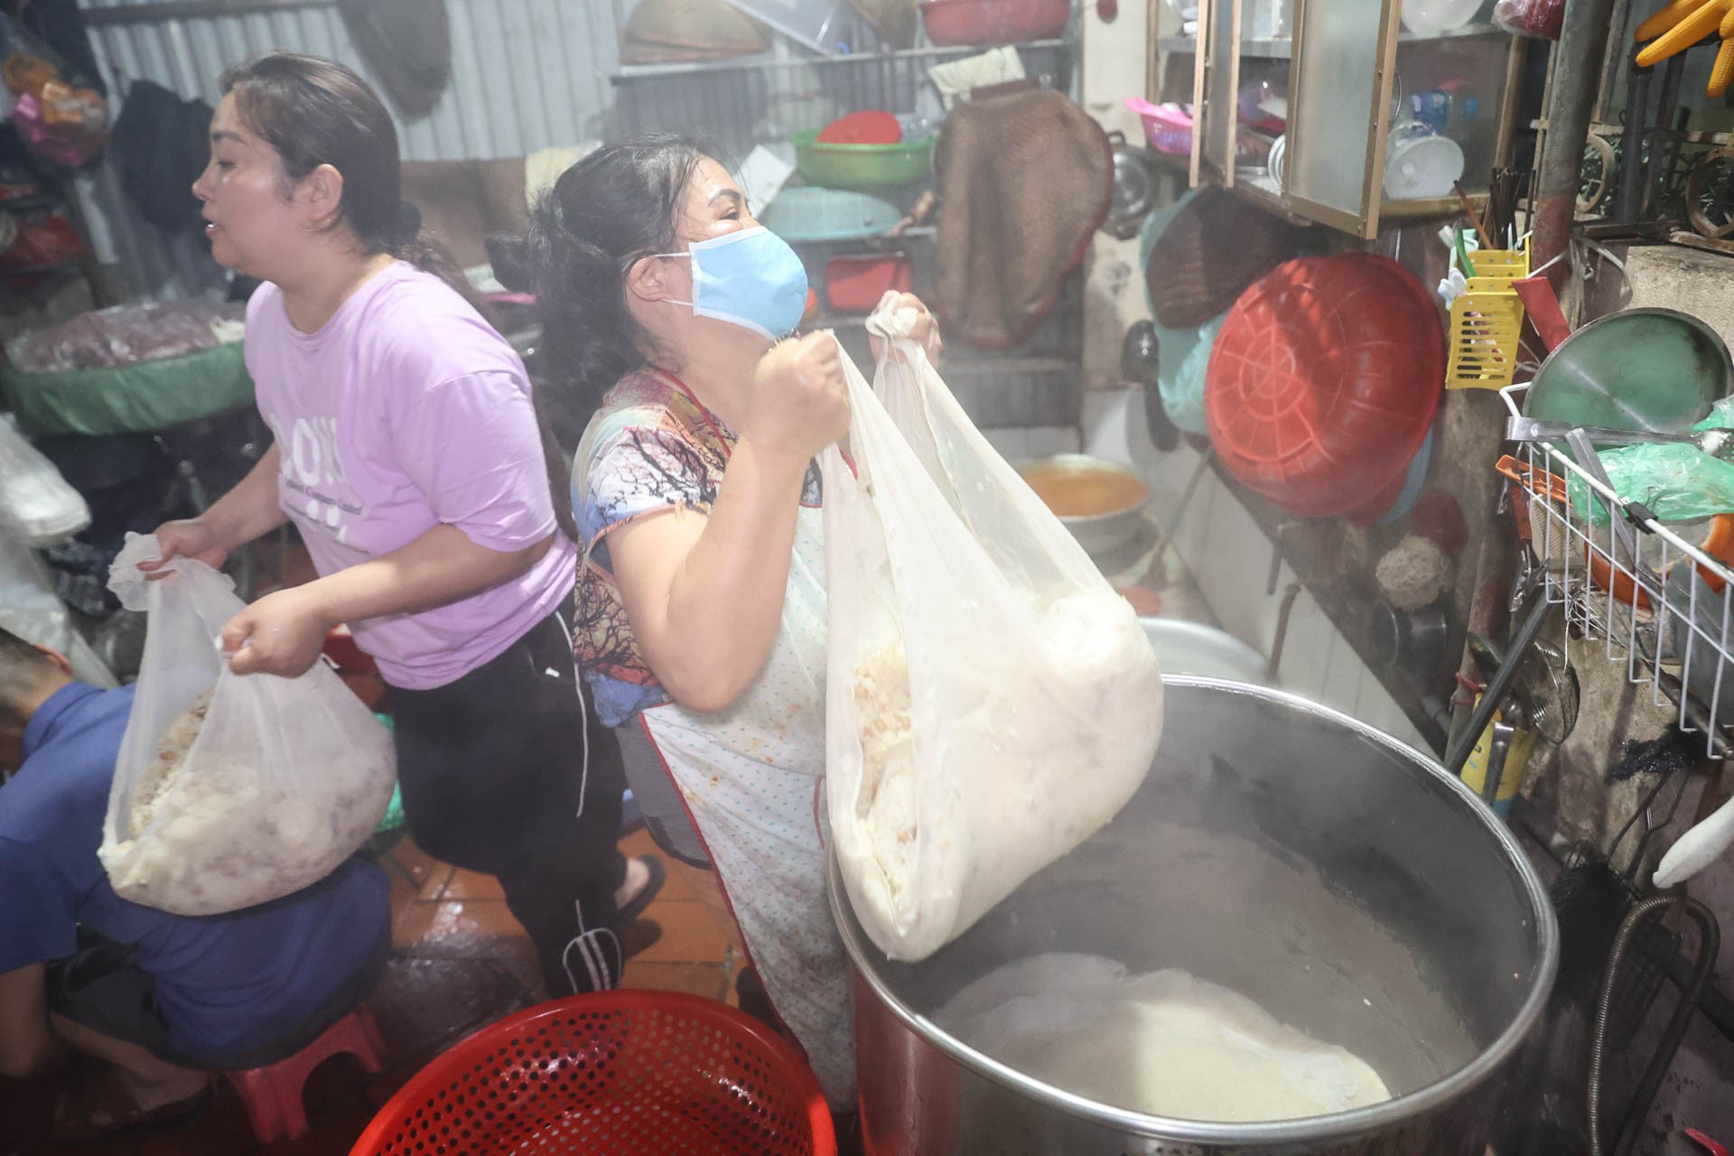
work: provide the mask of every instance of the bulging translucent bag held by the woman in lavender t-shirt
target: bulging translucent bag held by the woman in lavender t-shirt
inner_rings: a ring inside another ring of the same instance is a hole
[[[123,898],[177,915],[265,903],[328,875],[373,835],[397,778],[392,738],[324,664],[231,674],[217,648],[232,582],[128,534],[109,589],[149,615],[99,856]]]

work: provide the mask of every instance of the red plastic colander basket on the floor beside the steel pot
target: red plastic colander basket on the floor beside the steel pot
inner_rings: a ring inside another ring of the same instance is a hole
[[[836,1156],[796,1049],[727,1003],[598,991],[484,1028],[423,1068],[350,1156]]]

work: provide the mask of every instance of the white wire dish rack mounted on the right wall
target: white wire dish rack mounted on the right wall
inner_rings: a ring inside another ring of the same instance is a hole
[[[1524,381],[1500,390],[1512,416],[1522,414],[1528,388]],[[1734,679],[1724,678],[1734,664],[1734,570],[1599,482],[1562,447],[1526,442],[1514,458],[1531,534],[1521,586],[1540,586],[1576,627],[1566,631],[1568,659],[1573,646],[1599,646],[1607,660],[1625,662],[1632,683],[1649,686],[1654,705],[1677,712],[1680,730],[1701,733],[1710,757],[1734,754]],[[1600,506],[1606,520],[1597,523],[1585,503]],[[1666,581],[1677,567],[1696,568],[1703,582],[1687,581],[1682,593]]]

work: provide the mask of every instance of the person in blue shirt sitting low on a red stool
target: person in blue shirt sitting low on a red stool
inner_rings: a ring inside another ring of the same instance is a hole
[[[132,688],[73,681],[0,629],[0,1073],[95,1057],[57,1140],[186,1123],[208,1071],[286,1059],[349,1014],[390,951],[385,873],[359,858],[312,887],[187,917],[109,887],[97,846]]]

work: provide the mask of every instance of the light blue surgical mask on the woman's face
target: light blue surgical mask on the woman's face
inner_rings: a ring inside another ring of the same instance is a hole
[[[685,253],[657,257],[692,260],[692,300],[664,300],[690,305],[699,317],[727,321],[766,341],[780,341],[806,314],[806,269],[789,243],[765,225],[694,241]]]

